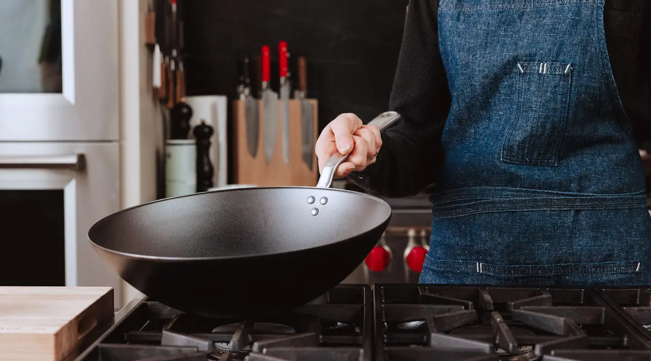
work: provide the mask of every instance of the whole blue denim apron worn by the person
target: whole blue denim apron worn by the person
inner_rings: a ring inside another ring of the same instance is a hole
[[[651,283],[603,0],[441,0],[452,104],[421,283]]]

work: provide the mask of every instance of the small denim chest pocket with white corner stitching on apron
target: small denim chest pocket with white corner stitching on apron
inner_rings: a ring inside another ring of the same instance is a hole
[[[572,64],[518,62],[513,118],[506,129],[501,160],[557,166],[568,119]]]

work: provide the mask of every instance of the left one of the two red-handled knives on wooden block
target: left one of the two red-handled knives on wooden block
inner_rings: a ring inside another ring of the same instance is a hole
[[[278,133],[278,94],[271,90],[271,54],[269,46],[262,46],[262,131],[264,158],[271,163]]]

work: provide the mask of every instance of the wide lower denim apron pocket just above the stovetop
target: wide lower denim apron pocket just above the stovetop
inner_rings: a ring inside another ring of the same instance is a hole
[[[494,265],[483,262],[425,261],[424,284],[485,284],[522,286],[639,286],[644,284],[641,261],[551,265]]]

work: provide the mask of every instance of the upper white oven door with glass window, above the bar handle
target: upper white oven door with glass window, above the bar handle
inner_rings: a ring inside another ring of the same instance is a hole
[[[118,0],[0,1],[0,141],[117,140],[118,87]]]

